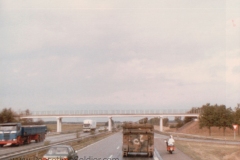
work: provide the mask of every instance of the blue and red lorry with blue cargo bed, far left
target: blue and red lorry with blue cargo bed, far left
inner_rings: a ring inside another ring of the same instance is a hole
[[[10,145],[29,144],[32,140],[41,142],[45,139],[47,127],[45,125],[22,126],[21,123],[0,123],[0,147]]]

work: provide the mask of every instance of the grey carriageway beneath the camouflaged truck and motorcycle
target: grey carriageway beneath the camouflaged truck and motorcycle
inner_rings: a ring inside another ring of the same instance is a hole
[[[155,134],[154,157],[145,156],[144,160],[192,160],[178,149],[173,154],[169,154],[164,142],[167,138],[167,136]],[[129,157],[122,157],[122,133],[118,132],[79,150],[78,157],[79,160],[142,160],[143,155],[132,154]]]

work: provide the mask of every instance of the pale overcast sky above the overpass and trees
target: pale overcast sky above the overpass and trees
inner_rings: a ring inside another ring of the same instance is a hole
[[[1,0],[0,108],[234,108],[239,8],[239,0]]]

